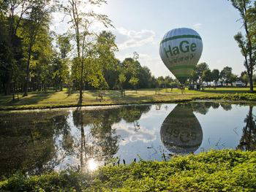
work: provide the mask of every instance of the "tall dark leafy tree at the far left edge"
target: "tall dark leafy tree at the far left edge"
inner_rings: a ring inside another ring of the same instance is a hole
[[[22,20],[29,15],[31,6],[34,1],[30,0],[5,0],[0,1],[0,22],[1,22],[1,37],[4,37],[4,57],[6,59],[1,61],[1,69],[4,70],[4,92],[6,95],[10,94],[11,82],[17,82],[20,79],[20,68],[23,58],[23,53],[21,49],[21,39],[18,37],[18,30],[21,26]],[[14,87],[14,85],[12,85]],[[12,91],[13,92],[13,91]]]

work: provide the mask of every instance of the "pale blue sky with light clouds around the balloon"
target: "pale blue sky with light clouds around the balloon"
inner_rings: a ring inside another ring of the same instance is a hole
[[[142,66],[148,66],[155,77],[173,76],[159,56],[159,42],[173,28],[195,29],[203,39],[199,62],[210,69],[231,66],[241,74],[244,58],[233,36],[243,31],[240,15],[227,0],[108,0],[97,11],[112,20],[121,61],[136,51]],[[59,21],[58,25],[61,25]],[[61,31],[60,26],[56,26]]]

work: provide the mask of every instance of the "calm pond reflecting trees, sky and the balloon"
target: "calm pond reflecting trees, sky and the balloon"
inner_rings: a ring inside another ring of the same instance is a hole
[[[256,149],[255,109],[212,101],[1,112],[0,179],[72,167]]]

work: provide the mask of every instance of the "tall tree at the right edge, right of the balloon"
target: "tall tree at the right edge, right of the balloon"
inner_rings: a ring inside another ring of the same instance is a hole
[[[256,58],[253,55],[255,47],[253,45],[254,36],[252,35],[251,26],[252,26],[252,23],[255,22],[256,17],[253,17],[253,14],[251,15],[249,14],[249,9],[253,9],[251,7],[252,1],[250,0],[230,0],[230,1],[232,2],[233,7],[235,7],[240,13],[241,20],[244,26],[245,37],[241,34],[241,32],[238,32],[238,34],[235,35],[234,39],[238,43],[238,46],[241,48],[241,53],[244,56],[244,60],[245,60],[244,66],[246,67],[246,72],[249,76],[250,92],[253,92],[252,76],[253,76],[253,71],[255,69]]]

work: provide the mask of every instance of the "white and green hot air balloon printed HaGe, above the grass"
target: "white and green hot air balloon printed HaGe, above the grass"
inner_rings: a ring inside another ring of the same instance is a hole
[[[191,28],[175,28],[168,31],[159,48],[165,66],[182,84],[195,70],[202,51],[202,38]]]

